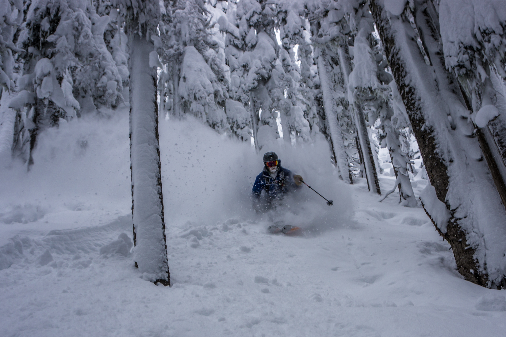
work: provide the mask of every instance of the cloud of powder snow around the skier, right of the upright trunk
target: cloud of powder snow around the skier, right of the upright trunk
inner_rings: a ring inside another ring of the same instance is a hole
[[[237,218],[259,221],[266,230],[273,221],[284,221],[318,232],[336,222],[335,226],[341,226],[351,216],[348,186],[328,161],[325,139],[297,149],[271,143],[256,154],[248,143],[223,138],[188,116],[182,121],[160,121],[160,143],[170,145],[160,153],[167,231],[175,226],[214,226],[217,221]],[[303,185],[285,199],[279,212],[257,215],[252,211],[251,188],[268,151],[275,151],[283,167],[301,174],[320,194],[332,199],[334,206],[327,206]]]

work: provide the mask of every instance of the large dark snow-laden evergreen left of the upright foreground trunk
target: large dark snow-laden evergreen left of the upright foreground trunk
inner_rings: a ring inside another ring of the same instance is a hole
[[[40,131],[57,126],[60,118],[95,110],[95,105],[116,107],[122,101],[122,80],[103,39],[108,16],[100,17],[84,0],[37,0],[27,6],[17,41],[24,63],[20,92],[10,106],[26,109],[18,126],[29,131],[29,149],[19,128],[15,151],[30,166]],[[80,103],[88,103],[87,109]]]

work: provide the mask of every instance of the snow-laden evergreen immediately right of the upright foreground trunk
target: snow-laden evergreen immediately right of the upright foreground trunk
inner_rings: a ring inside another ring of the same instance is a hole
[[[218,132],[225,132],[227,69],[224,59],[220,60],[220,46],[210,32],[208,16],[203,2],[172,3],[162,25],[160,53],[168,65],[166,79],[173,77],[173,113],[191,113]]]

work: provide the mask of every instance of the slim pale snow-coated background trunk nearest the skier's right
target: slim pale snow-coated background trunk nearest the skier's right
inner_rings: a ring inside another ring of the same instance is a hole
[[[333,90],[330,87],[330,79],[327,75],[328,67],[325,61],[323,50],[320,49],[318,56],[318,75],[320,77],[321,91],[323,95],[323,109],[325,110],[327,125],[330,130],[330,142],[335,154],[336,165],[341,172],[342,179],[352,182],[351,171],[348,165],[348,157],[345,151],[341,124],[339,123],[338,107],[333,97]]]

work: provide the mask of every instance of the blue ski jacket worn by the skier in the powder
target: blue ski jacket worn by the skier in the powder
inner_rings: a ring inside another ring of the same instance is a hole
[[[288,191],[293,191],[299,188],[293,180],[293,172],[281,167],[278,167],[278,173],[273,178],[271,173],[264,167],[262,173],[257,176],[253,189],[251,190],[255,197],[260,198],[262,190],[267,192],[269,199],[274,199],[278,195],[285,194]]]

